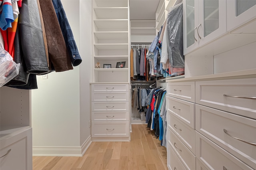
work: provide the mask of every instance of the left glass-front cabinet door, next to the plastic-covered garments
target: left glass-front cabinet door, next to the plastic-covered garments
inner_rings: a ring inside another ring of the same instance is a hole
[[[199,46],[198,38],[198,0],[183,1],[184,55]]]

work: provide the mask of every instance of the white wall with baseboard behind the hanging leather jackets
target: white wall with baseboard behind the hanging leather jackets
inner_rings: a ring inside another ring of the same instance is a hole
[[[82,144],[90,142],[91,1],[62,0],[62,5],[83,61],[73,70],[49,73],[48,79],[37,76],[38,89],[32,90],[34,155],[80,156]]]

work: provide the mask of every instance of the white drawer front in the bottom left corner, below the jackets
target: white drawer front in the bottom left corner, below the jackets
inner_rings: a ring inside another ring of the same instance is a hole
[[[1,140],[0,170],[32,170],[32,128]]]

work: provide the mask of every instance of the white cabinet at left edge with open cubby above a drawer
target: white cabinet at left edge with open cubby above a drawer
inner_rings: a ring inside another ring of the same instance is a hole
[[[0,170],[32,170],[30,90],[0,87]]]

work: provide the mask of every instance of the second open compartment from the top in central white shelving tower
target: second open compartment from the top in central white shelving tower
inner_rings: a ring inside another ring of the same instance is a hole
[[[128,7],[94,8],[97,19],[128,19]]]

